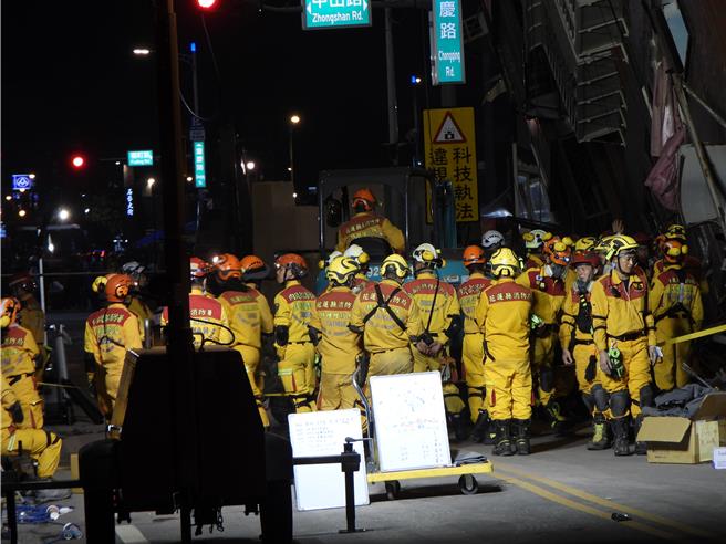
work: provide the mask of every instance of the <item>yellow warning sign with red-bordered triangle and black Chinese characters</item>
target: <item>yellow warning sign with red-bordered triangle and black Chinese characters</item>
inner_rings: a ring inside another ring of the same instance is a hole
[[[474,108],[424,109],[424,146],[426,168],[454,187],[456,220],[478,221]]]

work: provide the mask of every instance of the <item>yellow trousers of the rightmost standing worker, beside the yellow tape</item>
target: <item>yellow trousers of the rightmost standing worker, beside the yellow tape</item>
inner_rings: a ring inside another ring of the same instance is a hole
[[[655,338],[658,344],[692,332],[693,328],[687,317],[664,317],[655,324]],[[689,381],[689,376],[683,370],[681,363],[687,363],[688,360],[691,342],[668,344],[661,348],[663,349],[663,358],[653,366],[656,387],[662,391],[670,391],[674,387],[683,387]]]

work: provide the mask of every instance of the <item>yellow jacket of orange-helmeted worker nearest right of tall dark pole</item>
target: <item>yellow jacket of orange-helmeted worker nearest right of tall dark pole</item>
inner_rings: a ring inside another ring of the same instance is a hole
[[[225,308],[229,320],[229,328],[235,334],[235,344],[262,348],[262,334],[272,333],[272,316],[270,307],[260,305],[261,293],[250,289],[247,291],[225,291],[217,300]],[[265,314],[267,310],[268,314]]]

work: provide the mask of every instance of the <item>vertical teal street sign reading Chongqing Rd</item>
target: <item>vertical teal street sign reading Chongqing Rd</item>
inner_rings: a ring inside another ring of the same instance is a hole
[[[461,1],[432,0],[432,81],[434,85],[465,83]]]

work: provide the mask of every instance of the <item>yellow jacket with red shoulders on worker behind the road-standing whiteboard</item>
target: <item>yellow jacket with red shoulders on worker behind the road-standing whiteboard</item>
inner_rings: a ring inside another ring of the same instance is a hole
[[[355,358],[361,353],[361,335],[349,328],[355,294],[342,286],[332,287],[315,301],[310,326],[322,337],[318,352],[323,359],[322,372],[353,374]]]

